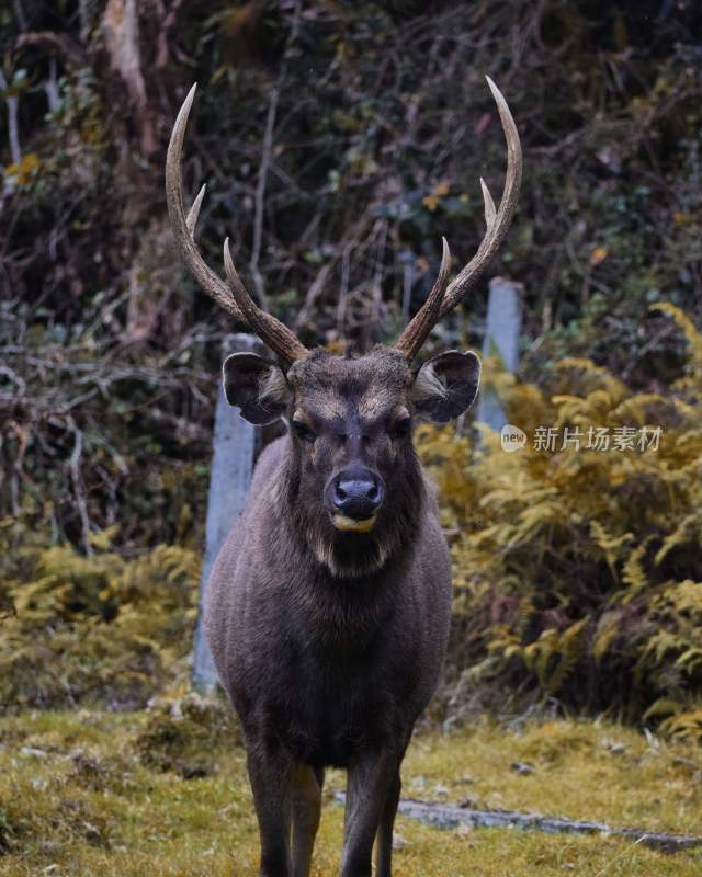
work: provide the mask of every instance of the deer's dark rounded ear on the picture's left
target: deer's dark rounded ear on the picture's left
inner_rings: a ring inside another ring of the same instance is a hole
[[[222,366],[227,402],[249,423],[263,426],[285,413],[291,388],[282,369],[256,353],[233,353]]]

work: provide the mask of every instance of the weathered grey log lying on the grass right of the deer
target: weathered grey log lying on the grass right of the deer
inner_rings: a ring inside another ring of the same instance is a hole
[[[335,791],[335,802],[344,804],[346,794]],[[438,829],[457,829],[469,825],[482,829],[520,829],[522,831],[544,831],[548,834],[603,834],[613,838],[626,838],[644,846],[660,850],[664,853],[677,853],[692,846],[702,845],[702,838],[684,834],[667,834],[645,829],[615,829],[603,822],[591,822],[582,819],[541,816],[540,813],[520,813],[517,810],[474,810],[448,804],[430,804],[412,799],[400,800],[397,812],[409,819],[418,819],[426,825]]]

